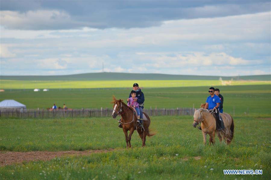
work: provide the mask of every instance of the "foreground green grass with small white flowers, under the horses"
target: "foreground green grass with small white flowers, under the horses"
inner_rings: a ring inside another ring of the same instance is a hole
[[[236,116],[234,121],[231,145],[216,138],[215,146],[204,146],[192,116],[151,117],[157,134],[147,138],[146,148],[134,134],[134,148],[126,150],[118,123],[107,118],[1,119],[2,150],[115,149],[3,166],[1,179],[269,179],[270,119]],[[223,169],[262,169],[263,175],[224,175]]]

